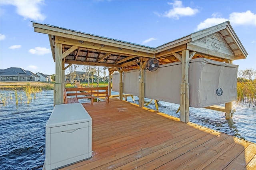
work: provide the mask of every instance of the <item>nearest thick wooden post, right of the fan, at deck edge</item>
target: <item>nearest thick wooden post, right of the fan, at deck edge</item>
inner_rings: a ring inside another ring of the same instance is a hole
[[[182,82],[180,84],[180,121],[188,123],[189,121],[189,83],[188,83],[188,65],[189,50],[182,51]]]

